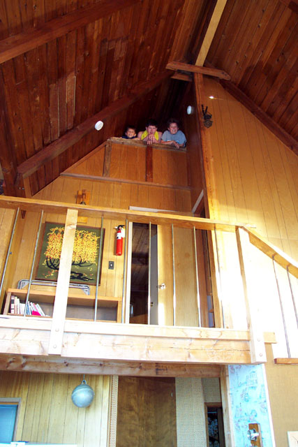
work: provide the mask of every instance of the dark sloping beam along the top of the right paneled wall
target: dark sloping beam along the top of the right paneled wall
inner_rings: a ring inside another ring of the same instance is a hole
[[[207,64],[211,66],[211,64]],[[267,115],[267,113],[262,110],[258,105],[256,105],[251,98],[248,98],[246,94],[239,89],[233,82],[228,80],[218,80],[225,90],[228,91],[234,98],[237,99],[244,107],[246,107],[256,118],[260,119],[260,122],[264,124],[269,131],[274,133],[274,135],[283,142],[284,145],[290,147],[290,149],[298,155],[298,142],[295,138],[290,135],[285,129],[283,129],[279,124],[274,122],[274,120]]]

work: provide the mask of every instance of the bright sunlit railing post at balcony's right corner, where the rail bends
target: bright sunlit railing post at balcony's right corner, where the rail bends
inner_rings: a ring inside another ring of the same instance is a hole
[[[239,254],[239,263],[241,277],[244,286],[244,297],[246,303],[246,316],[248,322],[248,330],[251,334],[251,362],[266,362],[266,351],[263,332],[260,324],[255,318],[255,309],[253,309],[253,283],[255,275],[252,269],[251,243],[249,242],[248,233],[243,228],[236,230],[237,247]]]

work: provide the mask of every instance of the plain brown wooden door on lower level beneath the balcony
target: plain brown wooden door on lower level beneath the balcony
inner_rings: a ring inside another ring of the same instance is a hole
[[[119,376],[117,447],[177,447],[174,378]]]

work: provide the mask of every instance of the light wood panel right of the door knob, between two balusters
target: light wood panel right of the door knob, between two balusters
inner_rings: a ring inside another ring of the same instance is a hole
[[[193,230],[174,228],[176,325],[198,326]]]

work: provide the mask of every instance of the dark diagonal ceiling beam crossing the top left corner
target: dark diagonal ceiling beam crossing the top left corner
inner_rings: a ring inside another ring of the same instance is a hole
[[[3,39],[0,41],[0,64],[135,3],[138,0],[101,0],[92,6],[50,20],[42,27]]]

